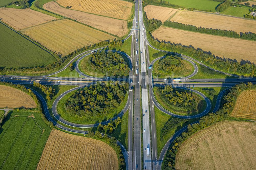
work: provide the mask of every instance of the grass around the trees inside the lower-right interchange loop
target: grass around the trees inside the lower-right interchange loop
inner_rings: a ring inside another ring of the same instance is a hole
[[[165,97],[160,94],[160,92],[158,90],[156,90],[155,87],[153,87],[154,90],[154,95],[155,98],[157,100],[157,102],[166,110],[174,113],[174,114],[178,114],[178,115],[196,115],[201,113],[202,111],[204,111],[204,109],[206,108],[206,102],[205,100],[197,95],[196,93],[193,93],[193,97],[197,103],[197,108],[193,108],[195,111],[191,112],[189,110],[187,110],[186,108],[182,108],[182,107],[178,107],[178,106],[174,106],[169,104],[169,101],[167,101],[165,99]],[[174,89],[174,90],[178,90],[178,91],[185,91],[182,89]]]

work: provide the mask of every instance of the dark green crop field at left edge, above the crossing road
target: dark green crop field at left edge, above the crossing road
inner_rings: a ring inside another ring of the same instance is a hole
[[[0,23],[0,68],[44,66],[56,58]]]

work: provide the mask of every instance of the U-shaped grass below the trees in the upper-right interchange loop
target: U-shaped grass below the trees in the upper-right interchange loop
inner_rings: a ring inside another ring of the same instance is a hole
[[[166,78],[166,77],[172,77],[172,78],[177,78],[177,77],[186,77],[190,74],[193,73],[194,71],[194,67],[191,63],[182,60],[181,62],[183,63],[183,68],[179,71],[176,72],[170,72],[170,71],[165,71],[165,70],[160,70],[158,68],[158,62],[160,60],[157,60],[154,64],[154,69],[152,71],[153,77],[157,77],[158,78]]]

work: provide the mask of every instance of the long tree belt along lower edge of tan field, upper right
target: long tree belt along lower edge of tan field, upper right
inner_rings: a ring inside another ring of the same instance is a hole
[[[152,37],[150,33],[147,34],[148,37]],[[154,40],[149,39],[151,44],[157,48],[160,48],[162,50],[167,51],[173,51],[176,53],[182,53],[188,56],[191,56],[199,61],[204,61],[204,64],[211,66],[215,69],[228,72],[230,74],[238,74],[238,75],[244,75],[244,76],[256,76],[256,66],[254,63],[245,63],[240,64],[238,62],[234,62],[229,59],[221,59],[218,57],[213,56],[209,52],[202,51],[200,49],[195,49],[192,46],[185,46],[182,44],[175,44],[165,41],[158,41],[157,39]]]

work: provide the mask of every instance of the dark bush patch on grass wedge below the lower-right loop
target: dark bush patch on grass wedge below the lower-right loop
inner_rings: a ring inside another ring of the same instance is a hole
[[[170,129],[177,127],[177,125],[184,124],[187,121],[188,119],[179,119],[176,117],[169,118],[169,120],[165,123],[163,129],[161,129],[160,139],[163,140],[167,133],[170,131]]]

